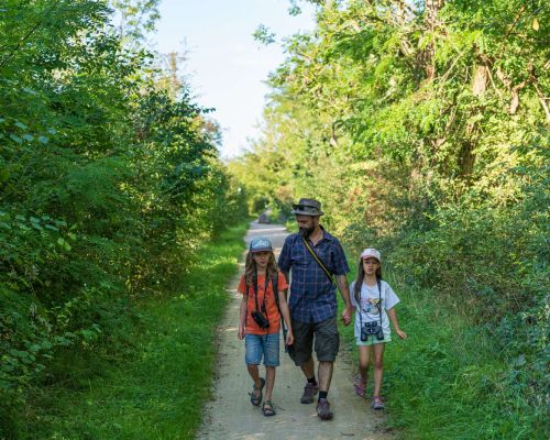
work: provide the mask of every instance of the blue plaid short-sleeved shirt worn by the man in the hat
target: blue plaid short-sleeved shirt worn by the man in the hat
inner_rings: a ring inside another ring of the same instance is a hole
[[[323,230],[323,238],[314,246],[317,255],[333,275],[350,272],[342,245],[337,238]],[[320,322],[337,315],[334,285],[306,249],[297,233],[286,238],[278,257],[278,266],[285,273],[292,270],[288,306],[293,319],[300,322]]]

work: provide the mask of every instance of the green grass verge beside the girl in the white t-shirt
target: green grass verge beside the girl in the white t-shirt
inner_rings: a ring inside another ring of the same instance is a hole
[[[402,299],[397,317],[408,336],[394,337],[384,355],[382,393],[388,398],[388,427],[398,438],[548,438],[544,415],[521,398],[521,380],[487,329],[471,323],[466,304],[386,278]],[[341,331],[356,365],[353,328]]]

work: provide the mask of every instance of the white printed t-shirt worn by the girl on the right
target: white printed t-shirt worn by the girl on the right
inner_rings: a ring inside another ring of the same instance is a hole
[[[384,334],[389,336],[389,318],[387,317],[386,310],[393,308],[399,298],[395,295],[395,292],[389,287],[385,280],[381,280],[382,295],[378,295],[378,285],[367,286],[361,283],[361,307],[358,307],[358,301],[354,295],[355,282],[350,285],[350,299],[351,305],[355,307],[355,338],[361,337],[361,319],[363,320],[363,326],[365,322],[377,321],[380,322],[378,315],[378,301],[382,297],[382,329]]]

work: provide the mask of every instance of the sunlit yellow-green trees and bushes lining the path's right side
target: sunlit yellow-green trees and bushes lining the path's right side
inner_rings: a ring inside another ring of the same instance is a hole
[[[324,226],[354,255],[381,248],[409,285],[432,289],[436,308],[448,298],[468,305],[458,310],[459,328],[472,327],[494,348],[498,373],[487,381],[509,373],[527,409],[517,428],[503,428],[509,399],[495,397],[490,414],[501,419],[480,417],[462,438],[536,437],[540,426],[530,420],[540,422],[548,400],[550,111],[541,23],[549,9],[520,0],[314,3],[316,29],[286,40],[287,58],[270,78],[262,139],[230,164],[251,208],[270,202],[285,211],[315,196]],[[439,346],[449,352],[452,343],[442,337]],[[464,350],[474,376],[492,369],[483,359],[476,371],[476,348]],[[407,367],[430,359],[416,355]],[[428,377],[441,386],[452,380]],[[411,375],[405,386],[418,389]],[[441,420],[416,417],[436,403],[407,395],[400,426],[461,438],[441,431]]]

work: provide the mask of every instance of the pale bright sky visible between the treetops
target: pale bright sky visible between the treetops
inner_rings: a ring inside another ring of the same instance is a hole
[[[162,0],[152,36],[163,54],[186,53],[183,73],[196,101],[222,129],[221,156],[239,155],[260,136],[258,123],[268,88],[265,80],[284,61],[280,40],[314,29],[314,7],[288,14],[288,0]],[[265,46],[252,34],[264,24],[277,43]]]

